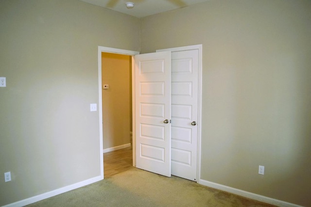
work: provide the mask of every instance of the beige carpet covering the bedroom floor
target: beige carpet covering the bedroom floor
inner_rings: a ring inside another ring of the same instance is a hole
[[[29,207],[273,207],[179,177],[136,168]]]

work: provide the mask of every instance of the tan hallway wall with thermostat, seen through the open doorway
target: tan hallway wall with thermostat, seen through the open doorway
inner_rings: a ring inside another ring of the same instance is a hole
[[[104,149],[130,143],[132,56],[102,52]]]

